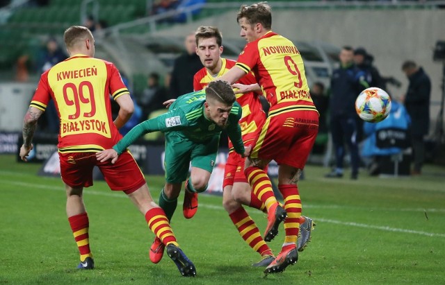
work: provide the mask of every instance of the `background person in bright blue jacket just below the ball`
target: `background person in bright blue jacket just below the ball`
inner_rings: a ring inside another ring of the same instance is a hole
[[[382,157],[387,155],[395,155],[403,151],[402,148],[398,146],[393,146],[389,148],[379,148],[377,144],[377,134],[379,130],[403,130],[405,133],[408,128],[410,128],[410,115],[407,113],[405,107],[392,100],[391,111],[389,112],[387,118],[378,123],[364,122],[363,130],[364,140],[362,148],[362,157],[365,158],[366,164],[369,166],[369,174],[378,175],[380,173],[380,165]]]

